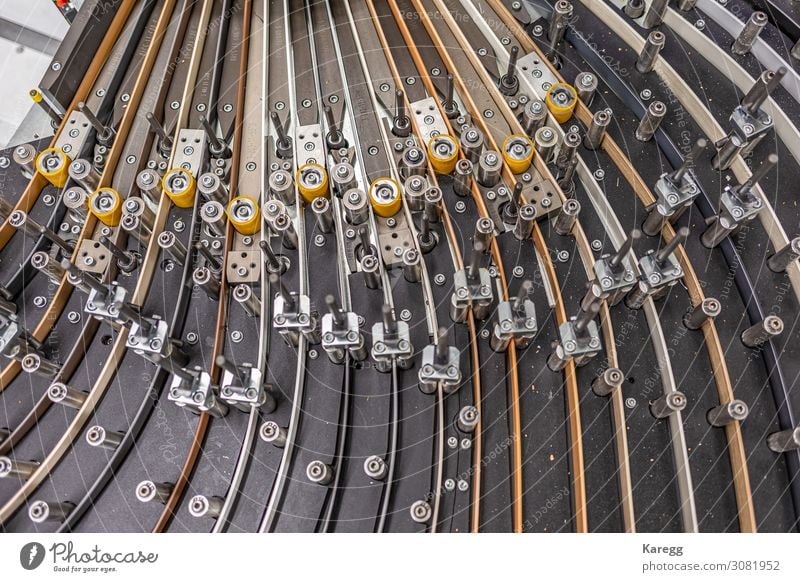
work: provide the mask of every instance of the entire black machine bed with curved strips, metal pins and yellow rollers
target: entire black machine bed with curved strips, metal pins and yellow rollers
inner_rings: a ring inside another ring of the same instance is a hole
[[[797,531],[797,27],[669,4],[84,2],[0,529]]]

